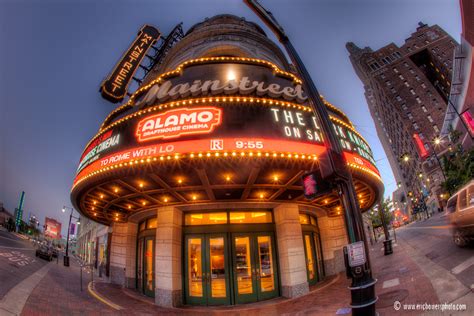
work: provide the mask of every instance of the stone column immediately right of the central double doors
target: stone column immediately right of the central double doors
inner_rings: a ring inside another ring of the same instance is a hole
[[[292,298],[309,292],[303,232],[297,204],[282,204],[273,210],[278,244],[282,295]]]

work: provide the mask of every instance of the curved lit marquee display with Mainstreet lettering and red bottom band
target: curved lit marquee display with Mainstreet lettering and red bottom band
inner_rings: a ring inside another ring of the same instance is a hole
[[[160,108],[164,102],[202,96],[208,98]],[[237,96],[245,98],[235,102]],[[215,102],[218,99],[224,102]],[[293,105],[272,101],[278,99]],[[321,155],[326,148],[320,124],[305,102],[295,80],[276,75],[266,66],[214,63],[186,67],[151,83],[136,97],[132,111],[115,119],[88,144],[75,183],[104,167],[169,155],[242,151]],[[334,111],[331,115],[346,162],[378,174],[365,140],[341,115]]]

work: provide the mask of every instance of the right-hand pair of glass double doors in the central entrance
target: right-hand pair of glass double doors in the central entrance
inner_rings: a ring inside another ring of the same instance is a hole
[[[235,302],[278,296],[273,234],[232,234]]]

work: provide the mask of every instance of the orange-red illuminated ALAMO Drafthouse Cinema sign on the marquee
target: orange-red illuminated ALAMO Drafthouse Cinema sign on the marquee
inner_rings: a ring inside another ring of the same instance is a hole
[[[140,142],[182,135],[208,134],[221,124],[222,109],[216,107],[182,108],[148,116],[138,122]]]

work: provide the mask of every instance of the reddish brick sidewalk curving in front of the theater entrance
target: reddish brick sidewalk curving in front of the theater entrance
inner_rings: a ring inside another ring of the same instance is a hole
[[[394,302],[439,303],[430,280],[410,258],[406,245],[394,246],[394,253],[384,256],[383,243],[370,246],[374,277],[378,279],[376,294],[380,315],[420,315],[422,311],[396,311]],[[61,263],[61,260],[60,260]],[[52,263],[48,274],[29,296],[21,315],[343,315],[350,314],[350,280],[344,273],[327,278],[311,288],[311,292],[295,299],[276,298],[253,304],[223,307],[163,308],[152,298],[123,289],[94,276],[88,291],[90,274],[84,273],[80,291],[80,268],[77,259],[71,266]]]

